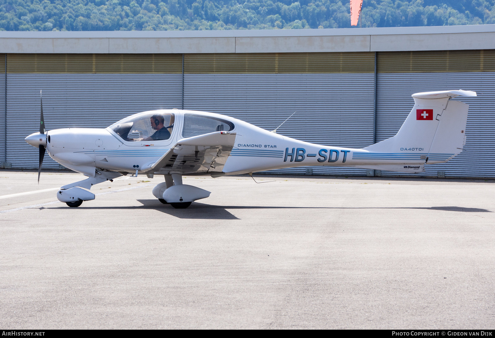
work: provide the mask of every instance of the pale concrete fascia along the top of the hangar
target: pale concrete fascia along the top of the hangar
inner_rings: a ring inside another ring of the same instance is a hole
[[[0,32],[0,53],[286,53],[495,49],[495,25],[316,30]]]

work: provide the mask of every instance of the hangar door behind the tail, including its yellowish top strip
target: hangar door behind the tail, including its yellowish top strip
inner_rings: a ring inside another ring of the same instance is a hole
[[[446,164],[427,166],[419,175],[445,171],[447,177],[495,177],[495,158],[487,155],[495,150],[494,61],[492,50],[379,53],[377,141],[396,134],[414,105],[411,94],[474,90],[479,93],[476,98],[457,98],[470,106],[464,151]],[[382,175],[408,174],[383,171]]]

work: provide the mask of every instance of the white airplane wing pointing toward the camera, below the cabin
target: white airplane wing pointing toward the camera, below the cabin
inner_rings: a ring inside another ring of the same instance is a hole
[[[235,140],[236,133],[228,131],[183,138],[156,161],[148,172],[221,175]]]

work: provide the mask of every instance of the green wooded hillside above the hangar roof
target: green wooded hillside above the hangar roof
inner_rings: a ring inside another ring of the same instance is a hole
[[[364,0],[362,27],[495,23],[495,0]],[[350,27],[348,0],[3,0],[0,30]]]

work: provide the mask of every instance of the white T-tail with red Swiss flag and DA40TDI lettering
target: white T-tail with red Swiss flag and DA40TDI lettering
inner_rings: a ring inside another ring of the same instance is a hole
[[[413,94],[414,107],[394,137],[363,148],[368,157],[418,160],[419,168],[402,165],[362,166],[402,172],[422,172],[425,164],[445,163],[459,154],[466,142],[469,106],[450,100],[457,96],[476,96],[474,91],[445,90]]]

